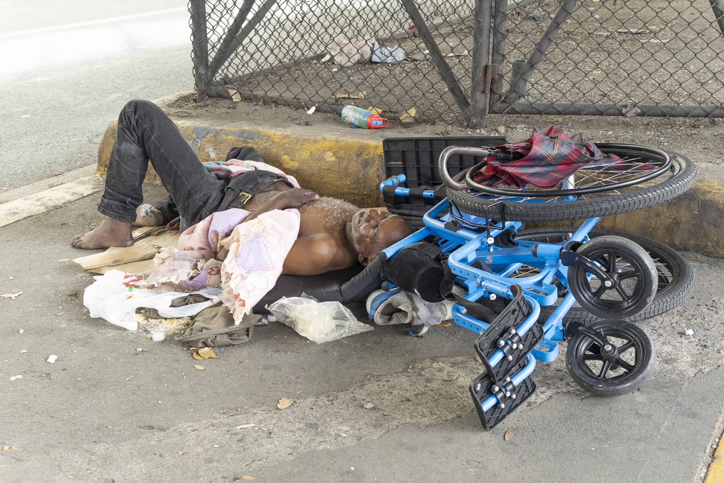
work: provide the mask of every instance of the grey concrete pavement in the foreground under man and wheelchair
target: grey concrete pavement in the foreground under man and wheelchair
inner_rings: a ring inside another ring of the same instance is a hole
[[[149,200],[163,195],[146,190]],[[475,335],[455,325],[423,339],[376,327],[316,345],[270,324],[247,345],[217,349],[199,371],[173,340],[90,319],[82,299],[91,275],[58,260],[87,253],[68,240],[101,221],[96,197],[0,227],[0,293],[22,291],[0,298],[3,483],[704,478],[724,408],[717,259],[686,253],[691,298],[641,323],[658,353],[641,390],[591,397],[568,376],[564,344],[557,361],[539,364],[529,402],[484,432],[467,390],[482,371]],[[282,397],[295,399],[284,411]]]

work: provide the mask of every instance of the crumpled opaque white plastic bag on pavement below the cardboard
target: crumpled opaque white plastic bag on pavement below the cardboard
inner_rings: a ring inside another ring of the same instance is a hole
[[[83,305],[88,308],[90,316],[102,317],[111,324],[129,330],[138,329],[138,322],[135,319],[135,309],[138,307],[156,308],[161,317],[190,317],[221,300],[222,294],[220,288],[207,288],[193,293],[201,293],[209,298],[209,301],[171,307],[174,298],[185,297],[192,293],[156,293],[147,288],[132,287],[129,290],[128,285],[132,285],[135,277],[119,270],[109,270],[93,278],[96,281],[83,292]]]

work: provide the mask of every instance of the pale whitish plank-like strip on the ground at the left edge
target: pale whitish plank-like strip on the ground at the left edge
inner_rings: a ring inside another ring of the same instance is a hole
[[[0,227],[50,211],[84,196],[98,193],[103,187],[103,177],[98,175],[86,176],[39,193],[8,201],[0,205]]]

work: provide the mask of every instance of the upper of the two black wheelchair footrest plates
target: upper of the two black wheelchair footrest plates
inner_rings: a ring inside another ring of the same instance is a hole
[[[510,291],[513,292],[513,301],[475,341],[475,350],[483,361],[487,374],[492,382],[499,386],[505,382],[505,377],[515,373],[515,368],[543,338],[543,328],[537,323],[523,335],[515,332],[515,327],[531,313],[531,307],[523,298],[520,285],[511,286]],[[498,349],[502,350],[504,356],[492,366],[488,359]]]

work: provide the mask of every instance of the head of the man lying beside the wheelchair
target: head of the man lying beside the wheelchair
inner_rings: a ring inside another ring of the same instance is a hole
[[[360,210],[350,222],[350,243],[357,259],[367,266],[380,251],[394,245],[414,230],[404,219],[387,210]]]

